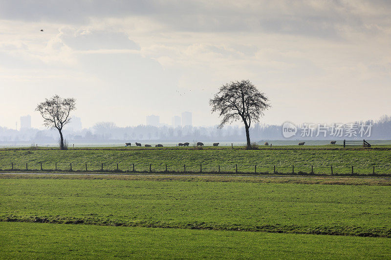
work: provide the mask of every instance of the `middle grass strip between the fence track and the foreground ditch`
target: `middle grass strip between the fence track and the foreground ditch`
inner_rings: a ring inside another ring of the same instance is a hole
[[[391,237],[391,186],[0,179],[0,220]]]

